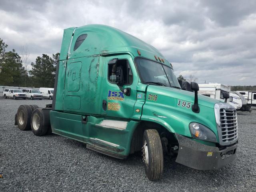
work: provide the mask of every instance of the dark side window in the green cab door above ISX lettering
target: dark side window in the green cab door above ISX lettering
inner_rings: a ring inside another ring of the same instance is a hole
[[[132,84],[132,70],[130,68],[129,62],[126,59],[120,59],[116,64],[108,64],[108,80],[111,83],[116,84],[116,68],[122,66],[124,74],[124,84]]]

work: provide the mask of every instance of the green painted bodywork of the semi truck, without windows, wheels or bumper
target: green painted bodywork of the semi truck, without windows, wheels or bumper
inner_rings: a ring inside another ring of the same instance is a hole
[[[76,39],[82,34],[87,34],[87,38],[73,51]],[[122,156],[128,156],[134,130],[142,121],[160,124],[169,132],[189,138],[188,125],[198,122],[210,128],[218,140],[214,104],[220,101],[198,95],[200,113],[194,113],[191,107],[178,105],[181,100],[192,106],[194,93],[143,84],[134,63],[139,56],[137,50],[140,50],[141,57],[156,61],[154,56],[157,56],[164,60],[162,64],[170,66],[156,48],[116,28],[87,25],[65,29],[60,51],[56,104],[50,112],[52,131],[91,145],[94,145],[92,141],[95,139],[110,142],[122,151],[114,152],[107,148],[108,144],[106,147],[103,144],[102,148]],[[127,60],[130,64],[132,84],[122,86],[131,88],[130,96],[124,95],[122,98],[118,94],[120,88],[108,80],[108,62],[114,58]],[[102,107],[103,100],[107,104],[106,110]],[[113,105],[120,108],[114,108]],[[116,129],[102,126],[103,120],[128,123],[126,128]]]

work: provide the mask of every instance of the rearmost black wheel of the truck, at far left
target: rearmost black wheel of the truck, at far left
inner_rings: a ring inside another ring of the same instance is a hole
[[[18,108],[16,121],[18,128],[22,131],[31,129],[30,119],[31,119],[32,109],[29,105],[21,105]]]

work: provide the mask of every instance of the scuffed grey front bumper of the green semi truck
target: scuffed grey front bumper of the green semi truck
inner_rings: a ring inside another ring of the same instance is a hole
[[[216,170],[234,161],[237,142],[222,150],[175,134],[179,142],[176,162],[198,170]]]

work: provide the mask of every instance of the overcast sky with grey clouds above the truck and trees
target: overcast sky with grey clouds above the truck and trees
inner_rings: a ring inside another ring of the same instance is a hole
[[[18,53],[28,45],[31,62],[86,24],[144,40],[198,83],[256,85],[256,0],[0,0],[0,38]]]

